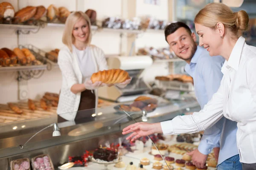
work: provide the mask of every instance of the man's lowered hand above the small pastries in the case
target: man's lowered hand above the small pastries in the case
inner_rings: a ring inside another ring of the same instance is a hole
[[[198,149],[193,150],[192,152],[187,153],[187,155],[192,156],[192,163],[199,168],[203,168],[207,160],[208,155],[204,155],[199,152]]]

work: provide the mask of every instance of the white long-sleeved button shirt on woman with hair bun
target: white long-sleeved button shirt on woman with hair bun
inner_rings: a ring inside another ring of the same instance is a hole
[[[256,47],[247,45],[244,37],[240,37],[221,69],[224,74],[221,85],[204,109],[193,115],[161,122],[163,133],[199,132],[225,116],[237,122],[236,142],[240,161],[256,163],[255,67]]]

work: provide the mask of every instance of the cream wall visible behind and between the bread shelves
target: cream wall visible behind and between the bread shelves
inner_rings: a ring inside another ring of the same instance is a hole
[[[153,16],[161,20],[172,20],[172,0],[160,0],[160,5],[154,6],[145,4],[144,0],[0,0],[0,3],[7,1],[12,3],[17,11],[25,6],[43,5],[46,8],[50,4],[57,7],[64,6],[70,11],[86,11],[92,8],[97,12],[97,20],[103,20],[106,17],[116,17],[131,19],[132,17]],[[46,27],[36,34],[17,36],[13,29],[3,29],[0,31],[0,48],[15,48],[17,44],[32,44],[44,51],[54,48],[61,48],[63,27]],[[92,44],[102,48],[105,54],[122,54],[128,55],[131,43],[135,40],[133,54],[138,48],[153,46],[156,48],[166,47],[168,44],[164,39],[164,32],[150,31],[140,34],[137,38],[126,37],[120,38],[118,33],[113,32],[96,32],[93,35]],[[120,42],[122,48],[120,49]],[[145,69],[143,77],[145,81],[154,81],[157,75],[167,75],[169,73],[168,63],[154,63],[150,68]],[[17,72],[0,73],[0,103],[16,102],[18,100],[18,82],[16,80]],[[56,68],[51,71],[44,71],[44,75],[39,79],[30,79],[24,82],[24,88],[28,88],[29,98],[39,99],[44,92],[58,93],[61,88],[61,71]]]

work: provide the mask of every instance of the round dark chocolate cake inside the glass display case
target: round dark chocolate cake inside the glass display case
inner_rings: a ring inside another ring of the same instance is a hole
[[[117,159],[117,156],[117,150],[113,148],[98,148],[93,153],[94,159],[100,159],[108,162]]]

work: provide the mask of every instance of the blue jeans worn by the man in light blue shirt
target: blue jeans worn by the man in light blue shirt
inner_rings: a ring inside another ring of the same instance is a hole
[[[223,161],[218,165],[217,170],[242,170],[239,155],[232,156],[231,158]]]

